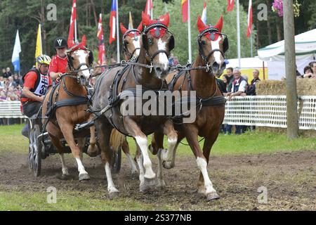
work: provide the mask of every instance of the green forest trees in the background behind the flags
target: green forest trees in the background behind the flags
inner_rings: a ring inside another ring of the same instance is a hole
[[[241,41],[242,57],[250,56],[250,41],[246,39],[246,21],[249,1],[240,1],[243,7],[240,8],[241,23]],[[301,16],[295,19],[296,34],[305,32],[316,27],[314,0],[299,0],[301,4]],[[55,4],[57,7],[57,20],[48,21],[46,6]],[[129,11],[133,16],[133,25],[137,27],[141,20],[141,11],[145,8],[146,0],[120,0],[119,1],[119,22],[125,26],[129,23]],[[208,21],[215,24],[224,15],[223,32],[228,34],[230,40],[230,50],[227,53],[228,58],[237,57],[237,25],[236,25],[236,6],[234,11],[227,13],[227,0],[206,0],[208,10]],[[258,4],[268,4],[268,21],[258,21]],[[96,38],[98,15],[103,14],[103,30],[105,37],[105,50],[107,59],[116,58],[116,43],[108,44],[110,32],[110,0],[78,0],[77,1],[77,25],[78,37],[86,34],[89,48],[93,51],[98,49],[98,39]],[[187,23],[182,23],[180,0],[169,1],[164,4],[163,1],[154,0],[154,16],[162,15],[169,11],[171,14],[170,30],[176,37],[176,49],[173,53],[178,56],[180,63],[186,63],[187,60]],[[254,0],[254,35],[257,49],[268,44],[272,44],[282,37],[282,18],[279,18],[271,11],[272,0]],[[1,0],[0,1],[0,68],[11,66],[11,56],[15,41],[16,30],[19,30],[22,52],[20,53],[21,73],[26,72],[34,64],[35,42],[37,37],[37,27],[42,25],[43,31],[43,50],[44,53],[53,56],[55,50],[53,41],[56,37],[65,37],[67,39],[70,25],[70,15],[72,0]],[[192,29],[192,58],[197,56],[197,15],[202,14],[203,1],[191,1],[191,29]],[[268,27],[270,24],[270,28]],[[277,28],[278,27],[278,28]],[[258,30],[258,37],[256,33]],[[270,35],[269,35],[270,34]],[[278,35],[279,34],[279,35]],[[121,45],[121,40],[119,41]],[[255,49],[255,48],[254,48]],[[121,48],[121,55],[123,54]],[[96,57],[95,57],[96,58]],[[121,57],[123,58],[123,57]]]

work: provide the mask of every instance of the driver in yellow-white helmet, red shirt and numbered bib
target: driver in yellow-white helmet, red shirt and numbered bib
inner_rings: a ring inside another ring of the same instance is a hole
[[[37,56],[37,65],[27,72],[23,77],[22,89],[22,112],[27,117],[39,112],[44,96],[51,85],[51,77],[48,75],[51,58],[46,55]]]

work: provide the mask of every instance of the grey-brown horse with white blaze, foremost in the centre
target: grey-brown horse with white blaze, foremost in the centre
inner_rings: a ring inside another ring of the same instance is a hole
[[[122,114],[121,106],[124,103],[139,99],[133,92],[133,90],[139,90],[136,85],[142,85],[140,93],[144,90],[166,89],[164,78],[169,72],[168,56],[174,46],[173,36],[168,31],[169,13],[160,17],[159,20],[150,20],[145,13],[142,14],[142,18],[146,28],[142,34],[140,55],[136,63],[124,68],[106,70],[98,78],[96,93],[93,96],[93,110],[102,112],[95,124],[109,193],[118,192],[112,181],[110,170],[112,160],[110,134],[113,127],[123,134],[133,136],[136,140],[138,151],[141,152],[141,155],[136,155],[136,161],[140,167],[140,191],[145,191],[154,185],[156,176],[152,171],[152,162],[147,153],[147,135],[162,129],[168,136],[169,150],[173,150],[177,140],[176,131],[169,117],[145,115],[143,112],[138,114],[137,102],[135,108],[129,108],[133,113]],[[128,92],[131,94],[128,99],[121,97]],[[143,107],[143,105],[144,101],[140,98],[140,106]]]

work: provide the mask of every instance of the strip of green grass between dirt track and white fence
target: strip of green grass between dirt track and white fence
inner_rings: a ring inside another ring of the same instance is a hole
[[[0,127],[0,153],[16,152],[27,153],[28,140],[20,131],[22,125]],[[185,140],[183,143],[187,143]],[[203,141],[201,142],[201,146]],[[133,139],[129,139],[131,151],[135,151]],[[166,141],[165,141],[166,146]],[[316,138],[299,138],[292,141],[287,136],[273,133],[248,132],[237,136],[224,136],[220,134],[214,144],[211,155],[248,155],[274,152],[291,152],[294,150],[316,150]],[[180,144],[177,154],[179,156],[192,155],[188,146]]]

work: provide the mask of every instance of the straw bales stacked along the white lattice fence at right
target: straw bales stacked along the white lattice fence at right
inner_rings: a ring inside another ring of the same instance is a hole
[[[297,79],[296,88],[298,96],[316,96],[316,79]],[[258,96],[286,96],[286,81],[264,80],[256,84],[256,93]],[[301,113],[300,108],[298,113]],[[279,134],[287,132],[287,129],[273,127],[258,127],[258,130],[273,131]],[[299,133],[302,136],[316,136],[315,130],[300,130]]]

